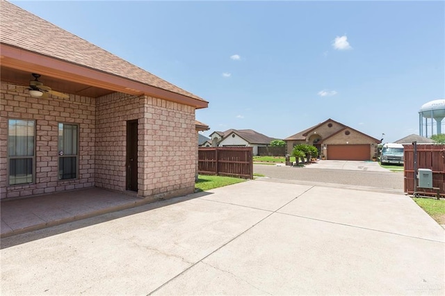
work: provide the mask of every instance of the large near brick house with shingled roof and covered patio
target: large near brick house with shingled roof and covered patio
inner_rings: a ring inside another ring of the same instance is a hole
[[[205,126],[195,110],[207,101],[12,3],[0,6],[1,199],[90,187],[149,199],[194,191]]]

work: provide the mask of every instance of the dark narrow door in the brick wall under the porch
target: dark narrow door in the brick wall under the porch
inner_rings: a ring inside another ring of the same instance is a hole
[[[127,122],[127,190],[138,191],[138,120]]]

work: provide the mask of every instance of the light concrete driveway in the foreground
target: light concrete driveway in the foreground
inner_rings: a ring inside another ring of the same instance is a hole
[[[1,295],[443,295],[402,194],[247,181],[2,239]]]

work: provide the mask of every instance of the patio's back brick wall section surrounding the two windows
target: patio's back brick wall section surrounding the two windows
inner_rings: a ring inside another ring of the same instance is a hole
[[[95,184],[95,99],[30,97],[26,88],[1,83],[1,199],[88,188]],[[8,186],[8,120],[35,120],[35,183]],[[58,180],[58,123],[79,124],[79,179]]]

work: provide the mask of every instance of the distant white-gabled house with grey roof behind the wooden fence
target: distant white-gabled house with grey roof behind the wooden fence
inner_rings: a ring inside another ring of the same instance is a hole
[[[253,147],[253,155],[258,155],[258,147],[266,147],[276,140],[252,129],[229,129],[210,134],[212,147]]]

